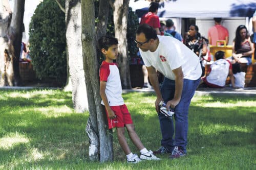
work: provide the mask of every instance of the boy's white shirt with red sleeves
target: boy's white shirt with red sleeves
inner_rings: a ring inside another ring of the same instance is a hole
[[[119,70],[116,63],[103,61],[99,68],[100,81],[106,82],[106,98],[110,106],[120,106],[124,104],[122,98],[122,85]],[[104,105],[101,100],[101,104]]]

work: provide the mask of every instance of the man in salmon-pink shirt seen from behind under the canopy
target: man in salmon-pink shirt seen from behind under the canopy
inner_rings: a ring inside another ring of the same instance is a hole
[[[210,45],[217,45],[218,40],[225,40],[228,44],[229,35],[228,30],[221,25],[222,18],[214,18],[215,26],[208,30],[208,40]],[[222,44],[221,44],[222,45]]]

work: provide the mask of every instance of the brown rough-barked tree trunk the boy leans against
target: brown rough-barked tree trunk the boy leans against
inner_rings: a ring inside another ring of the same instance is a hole
[[[104,1],[104,0],[102,0]],[[90,160],[100,162],[113,160],[112,131],[106,126],[106,118],[100,105],[99,67],[95,43],[94,0],[82,0],[82,54],[90,116],[87,134],[90,138]]]

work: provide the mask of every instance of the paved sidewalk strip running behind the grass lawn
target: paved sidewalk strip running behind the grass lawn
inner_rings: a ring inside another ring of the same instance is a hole
[[[154,92],[154,89],[151,88],[141,88],[141,89],[132,89],[132,90],[123,90],[123,93],[127,92]],[[222,95],[222,96],[249,96],[256,97],[256,87],[247,87],[247,88],[198,88],[195,95]],[[256,98],[255,98],[256,100]]]

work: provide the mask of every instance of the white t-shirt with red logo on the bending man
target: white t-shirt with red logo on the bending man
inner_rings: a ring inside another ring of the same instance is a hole
[[[202,75],[198,56],[186,45],[170,36],[158,36],[159,45],[155,52],[143,52],[145,66],[153,66],[170,80],[175,80],[173,70],[182,67],[184,79],[197,80]]]

